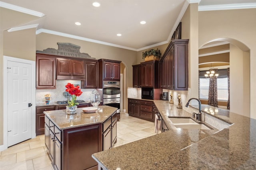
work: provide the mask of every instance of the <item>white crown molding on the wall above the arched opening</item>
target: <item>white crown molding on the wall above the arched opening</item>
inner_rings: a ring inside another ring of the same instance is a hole
[[[198,6],[198,11],[236,10],[236,9],[247,9],[247,8],[256,8],[256,3]]]

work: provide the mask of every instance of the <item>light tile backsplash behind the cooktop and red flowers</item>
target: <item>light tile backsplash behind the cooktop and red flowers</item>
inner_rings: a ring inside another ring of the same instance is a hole
[[[66,90],[66,84],[72,83],[74,85],[81,85],[80,80],[56,80],[56,89],[36,89],[36,103],[44,103],[44,95],[51,94],[51,102],[57,102],[67,100],[63,96],[63,92]],[[90,94],[94,89],[81,89],[83,92],[81,96],[77,97],[77,100],[90,100]]]

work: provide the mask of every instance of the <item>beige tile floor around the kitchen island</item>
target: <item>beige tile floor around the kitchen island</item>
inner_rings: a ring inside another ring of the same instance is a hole
[[[154,123],[125,113],[117,123],[117,143],[124,145],[155,135]],[[53,170],[44,146],[44,135],[38,135],[6,150],[0,151],[0,170]]]

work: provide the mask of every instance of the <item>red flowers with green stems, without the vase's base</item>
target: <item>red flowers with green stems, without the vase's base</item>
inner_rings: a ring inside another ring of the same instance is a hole
[[[65,87],[67,88],[66,92],[68,92],[72,96],[72,100],[68,100],[68,106],[78,105],[78,103],[76,102],[76,97],[80,96],[83,93],[81,89],[79,89],[79,86],[74,86],[73,84],[68,83]]]

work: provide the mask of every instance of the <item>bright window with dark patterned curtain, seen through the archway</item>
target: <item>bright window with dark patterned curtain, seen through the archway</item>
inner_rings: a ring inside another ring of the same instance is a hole
[[[223,71],[226,71],[226,69]],[[201,73],[202,72],[202,73]],[[217,92],[219,101],[228,101],[228,76],[226,73],[222,73],[222,70],[218,70],[221,73],[217,78]],[[200,71],[199,77],[199,98],[208,100],[209,93],[209,79],[204,77],[205,71]]]

